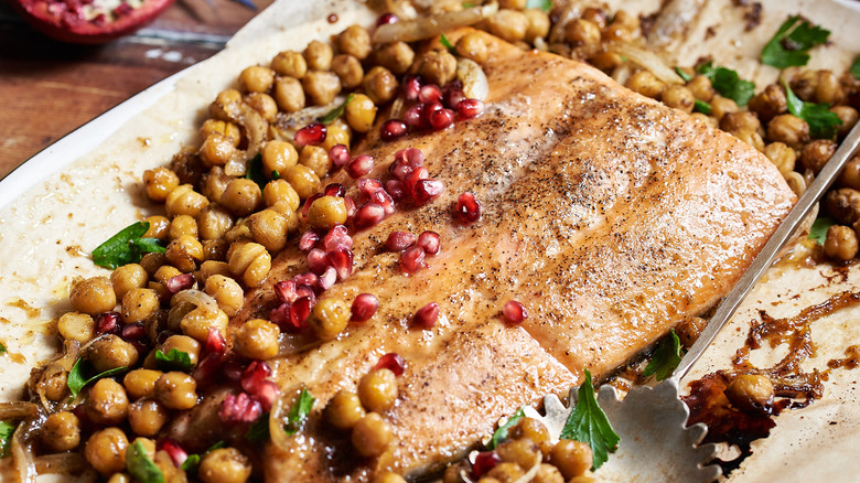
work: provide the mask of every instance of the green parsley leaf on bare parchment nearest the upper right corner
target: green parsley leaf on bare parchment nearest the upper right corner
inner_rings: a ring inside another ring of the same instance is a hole
[[[827,42],[829,30],[813,25],[799,15],[789,17],[762,49],[762,64],[776,68],[806,65],[807,51]]]

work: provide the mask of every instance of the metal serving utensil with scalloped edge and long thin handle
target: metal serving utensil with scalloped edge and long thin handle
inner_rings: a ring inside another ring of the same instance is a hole
[[[600,388],[598,402],[606,412],[615,432],[621,436],[617,451],[610,454],[609,461],[595,473],[600,481],[708,483],[720,476],[720,466],[708,465],[717,453],[717,446],[699,444],[708,428],[702,423],[686,426],[689,408],[678,397],[679,382],[725,326],[741,302],[774,262],[777,254],[793,238],[813,206],[842,171],[858,144],[860,124],[851,129],[743,277],[722,300],[699,339],[669,378],[654,387],[635,387],[622,400],[614,387],[604,385]],[[549,395],[544,398],[545,415],[533,408],[526,408],[526,415],[541,420],[549,429],[550,436],[558,439],[577,402],[577,389],[578,387],[574,387],[570,390],[569,407],[556,395]]]

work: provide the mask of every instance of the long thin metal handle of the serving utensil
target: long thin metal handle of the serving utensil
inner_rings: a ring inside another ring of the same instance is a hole
[[[743,302],[743,299],[750,293],[752,288],[762,278],[765,270],[776,259],[776,255],[785,247],[792,236],[800,226],[806,215],[813,206],[818,203],[821,195],[834,184],[836,176],[842,171],[846,162],[851,158],[851,154],[860,144],[860,122],[854,125],[848,136],[845,138],[839,149],[836,150],[832,158],[825,164],[824,169],[818,173],[811,184],[806,189],[800,200],[794,205],[788,216],[783,221],[776,230],[771,235],[771,238],[764,245],[764,248],[753,260],[750,268],[743,273],[734,288],[722,299],[720,307],[711,316],[708,325],[692,344],[692,347],[681,358],[678,367],[675,368],[673,377],[676,379],[682,378],[690,371],[694,364],[701,357],[705,351],[711,345],[717,334],[725,326],[729,320],[738,311],[738,308]]]

